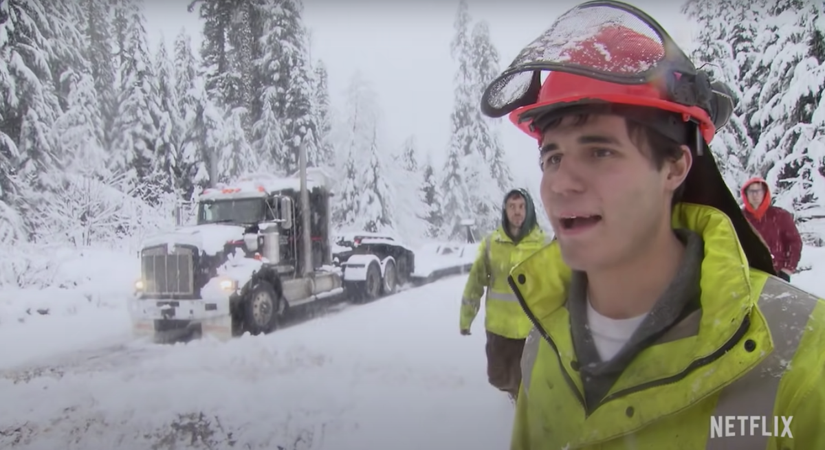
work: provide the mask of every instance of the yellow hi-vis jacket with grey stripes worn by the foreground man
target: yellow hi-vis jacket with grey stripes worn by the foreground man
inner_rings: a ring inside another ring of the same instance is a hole
[[[680,204],[674,225],[705,241],[701,309],[636,356],[590,415],[564,304],[571,272],[559,247],[512,270],[514,292],[535,321],[512,450],[825,448],[825,302],[750,269],[718,210]],[[735,436],[712,437],[714,420],[727,429],[724,416],[734,416],[727,421]],[[765,432],[780,436],[762,435],[761,416]],[[774,430],[775,416],[793,416],[792,438],[781,435],[781,418]]]

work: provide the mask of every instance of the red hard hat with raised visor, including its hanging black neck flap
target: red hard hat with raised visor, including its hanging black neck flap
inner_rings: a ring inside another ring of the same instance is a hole
[[[549,72],[544,82],[543,72]],[[615,0],[573,7],[521,49],[481,98],[484,115],[510,115],[538,140],[542,122],[594,105],[691,146],[699,157],[687,174],[681,201],[725,213],[748,264],[775,274],[770,251],[739,209],[708,147],[730,119],[732,92],[696,69],[645,12]]]

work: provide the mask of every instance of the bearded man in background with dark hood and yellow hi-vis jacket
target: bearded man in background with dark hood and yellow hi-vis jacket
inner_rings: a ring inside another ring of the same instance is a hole
[[[532,324],[507,284],[507,275],[514,265],[544,246],[544,232],[536,223],[533,200],[526,190],[507,193],[502,209],[501,227],[483,239],[469,272],[461,299],[460,331],[470,334],[487,288],[487,376],[490,384],[515,401],[521,383],[521,351]]]

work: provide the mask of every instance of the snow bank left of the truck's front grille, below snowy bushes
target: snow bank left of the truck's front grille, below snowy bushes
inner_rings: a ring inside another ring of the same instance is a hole
[[[54,263],[50,287],[0,289],[0,369],[130,339],[136,255],[56,249],[43,257]]]

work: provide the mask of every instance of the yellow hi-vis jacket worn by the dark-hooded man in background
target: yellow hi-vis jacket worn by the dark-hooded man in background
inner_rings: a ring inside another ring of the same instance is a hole
[[[469,271],[461,300],[460,328],[469,330],[485,298],[484,326],[488,331],[512,339],[524,339],[532,324],[507,284],[507,274],[514,265],[549,243],[540,227],[534,227],[518,244],[513,243],[502,227],[485,237]]]

